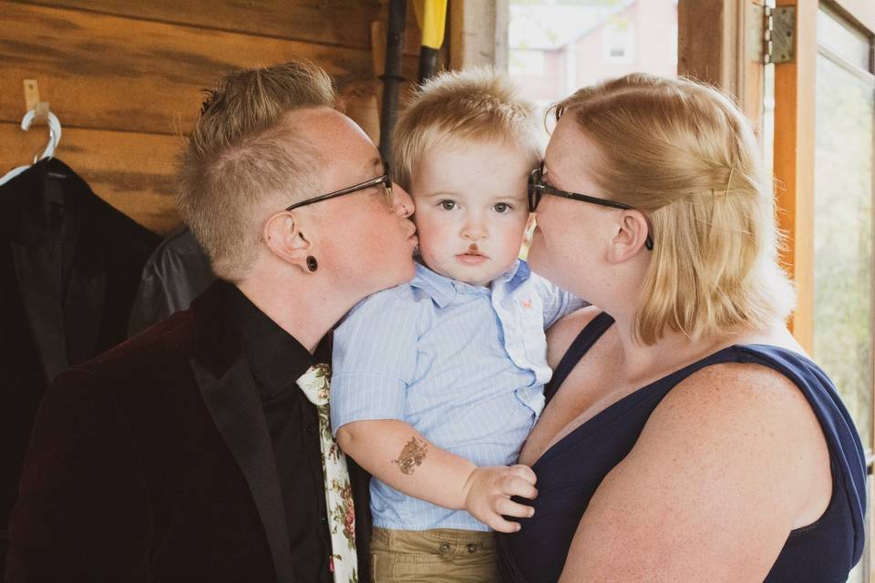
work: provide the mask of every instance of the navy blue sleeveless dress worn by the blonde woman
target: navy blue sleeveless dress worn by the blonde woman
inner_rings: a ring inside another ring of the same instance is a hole
[[[613,323],[602,312],[578,335],[546,389],[548,400],[592,344]],[[836,389],[817,364],[777,346],[729,346],[638,389],[564,436],[532,466],[538,476],[535,516],[522,529],[499,535],[499,568],[505,581],[556,581],[583,511],[604,476],[623,460],[664,396],[687,376],[716,363],[757,363],[797,384],[818,416],[829,446],[832,498],[817,522],[787,537],[769,583],[838,583],[863,550],[866,464],[860,437]],[[530,501],[525,501],[530,502]],[[763,509],[768,512],[767,508]]]

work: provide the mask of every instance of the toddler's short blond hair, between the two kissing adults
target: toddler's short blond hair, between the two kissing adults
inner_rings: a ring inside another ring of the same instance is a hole
[[[451,139],[517,144],[541,158],[532,105],[516,96],[510,79],[488,67],[448,71],[429,79],[398,117],[392,140],[393,178],[410,189],[427,151]]]

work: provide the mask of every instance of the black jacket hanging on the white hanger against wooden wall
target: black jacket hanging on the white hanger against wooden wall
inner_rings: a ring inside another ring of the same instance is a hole
[[[58,159],[0,186],[0,573],[46,386],[125,340],[140,273],[159,242]]]

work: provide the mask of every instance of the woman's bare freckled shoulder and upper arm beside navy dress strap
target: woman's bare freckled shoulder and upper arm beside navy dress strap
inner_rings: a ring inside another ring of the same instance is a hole
[[[707,366],[665,396],[602,480],[562,580],[761,581],[829,491],[824,437],[798,387],[758,364]]]

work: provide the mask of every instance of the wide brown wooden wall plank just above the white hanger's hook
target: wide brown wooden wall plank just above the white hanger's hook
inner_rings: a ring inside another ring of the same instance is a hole
[[[21,83],[39,81],[65,128],[170,136],[190,131],[203,87],[235,68],[304,56],[341,89],[374,80],[371,51],[179,26],[41,5],[0,3],[0,121],[25,114]],[[63,34],[58,33],[63,30]],[[406,56],[407,78],[417,58]],[[0,148],[0,166],[15,166]]]

